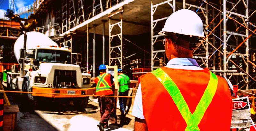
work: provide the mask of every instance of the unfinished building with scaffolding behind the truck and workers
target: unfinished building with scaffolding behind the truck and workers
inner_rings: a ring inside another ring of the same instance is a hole
[[[206,37],[194,53],[200,67],[224,76],[229,86],[254,89],[253,0],[36,0],[31,7],[38,22],[35,30],[81,53],[92,76],[105,63],[118,65],[133,79],[166,65],[158,32],[180,9],[195,11],[203,20]]]

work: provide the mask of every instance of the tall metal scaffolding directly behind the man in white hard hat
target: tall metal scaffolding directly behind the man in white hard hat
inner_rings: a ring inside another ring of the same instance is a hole
[[[173,3],[171,4],[170,2]],[[228,4],[226,2],[228,2]],[[182,1],[182,8],[195,11],[201,17],[204,24],[204,33],[206,37],[203,38],[201,47],[199,47],[199,49],[194,53],[194,58],[197,59],[200,67],[209,68],[212,72],[223,75],[223,77],[229,82],[230,86],[232,86],[230,82],[231,80],[232,83],[236,85],[243,83],[240,86],[240,89],[244,87],[246,87],[245,89],[249,89],[249,83],[251,81],[255,83],[254,72],[256,67],[255,51],[251,54],[249,52],[249,38],[252,35],[255,35],[256,29],[254,31],[250,29],[249,25],[254,28],[255,25],[252,22],[249,22],[249,18],[256,10],[251,10],[252,13],[249,15],[249,0],[239,0],[236,1],[236,3],[223,0],[223,3],[215,3],[214,1],[201,1],[201,3],[198,3],[199,5],[193,5],[186,3],[185,0]],[[173,0],[167,0],[156,4],[153,4],[152,1],[151,3],[152,70],[159,68],[157,65],[163,66],[162,63],[164,63],[164,65],[166,63],[166,59],[163,58],[163,52],[165,50],[156,50],[156,48],[159,49],[161,44],[158,44],[156,47],[155,45],[157,42],[160,43],[158,39],[159,37],[162,37],[157,34],[160,29],[156,29],[157,23],[162,20],[165,21],[168,17],[154,19],[156,9],[159,9],[159,7],[166,8],[163,6],[164,4],[170,5],[173,12],[175,12],[175,1]],[[215,7],[218,4],[223,4],[223,7]],[[165,11],[167,10],[165,9]],[[217,18],[220,18],[219,21]],[[218,22],[218,24],[215,22]],[[215,31],[218,29],[219,33]],[[249,32],[251,35],[249,35]],[[164,49],[163,46],[162,49]],[[158,56],[161,58],[157,58]],[[250,67],[252,74],[249,74]],[[252,80],[249,81],[249,78]]]

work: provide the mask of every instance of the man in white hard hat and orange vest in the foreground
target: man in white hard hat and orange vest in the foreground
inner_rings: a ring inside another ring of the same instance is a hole
[[[164,35],[169,62],[140,77],[132,111],[134,131],[230,130],[227,82],[192,59],[204,37],[200,17],[191,10],[178,10],[158,34]]]

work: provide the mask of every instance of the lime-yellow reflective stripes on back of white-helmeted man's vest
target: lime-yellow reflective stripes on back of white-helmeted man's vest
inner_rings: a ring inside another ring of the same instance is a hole
[[[182,96],[179,88],[172,81],[167,73],[165,73],[161,68],[152,71],[152,74],[163,84],[164,88],[168,91],[172,97],[174,103],[176,104],[180,114],[187,123],[185,131],[189,130],[200,130],[198,124],[204,116],[206,109],[212,101],[212,98],[216,92],[218,78],[217,76],[210,72],[210,81],[207,85],[207,88],[204,91],[204,94],[196,106],[195,112],[192,114],[188,108],[184,97]]]

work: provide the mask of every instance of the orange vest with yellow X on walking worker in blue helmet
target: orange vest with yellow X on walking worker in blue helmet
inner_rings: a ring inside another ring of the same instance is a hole
[[[95,78],[96,95],[112,95],[110,74],[102,73]]]

